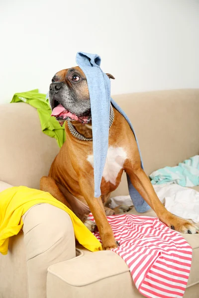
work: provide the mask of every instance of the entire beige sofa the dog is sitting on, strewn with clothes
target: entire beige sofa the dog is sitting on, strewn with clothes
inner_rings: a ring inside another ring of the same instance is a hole
[[[199,89],[113,98],[135,128],[147,174],[199,154]],[[41,132],[34,108],[25,103],[0,105],[0,181],[39,188],[58,150],[56,141]],[[0,182],[0,190],[8,186]],[[119,194],[127,194],[125,179],[113,195]],[[155,216],[153,211],[147,215]],[[23,221],[23,231],[9,241],[8,254],[0,255],[0,298],[143,297],[118,255],[92,253],[75,243],[64,211],[40,204],[26,212]],[[184,297],[198,298],[199,234],[184,237],[193,247]]]

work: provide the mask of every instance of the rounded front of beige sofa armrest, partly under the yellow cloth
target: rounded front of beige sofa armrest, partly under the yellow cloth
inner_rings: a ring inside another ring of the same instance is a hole
[[[50,204],[38,204],[23,216],[28,298],[46,298],[47,268],[76,256],[70,216]]]

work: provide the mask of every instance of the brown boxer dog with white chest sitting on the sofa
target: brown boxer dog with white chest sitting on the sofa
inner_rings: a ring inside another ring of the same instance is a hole
[[[49,102],[52,115],[60,125],[69,120],[80,135],[92,139],[89,90],[86,76],[79,67],[62,70],[53,76]],[[109,129],[109,148],[100,198],[94,197],[93,142],[79,140],[72,135],[67,123],[66,142],[55,157],[49,176],[41,178],[41,190],[49,192],[68,206],[83,222],[86,222],[91,211],[105,250],[117,247],[104,205],[110,193],[118,187],[123,171],[128,173],[133,186],[164,224],[183,233],[198,233],[197,226],[172,215],[160,202],[149,178],[141,169],[140,155],[131,128],[116,109],[113,108],[113,111],[114,121]],[[109,209],[106,209],[108,212]]]

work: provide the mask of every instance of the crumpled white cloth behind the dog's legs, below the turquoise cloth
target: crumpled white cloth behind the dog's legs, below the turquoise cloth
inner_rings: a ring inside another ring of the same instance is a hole
[[[174,183],[153,185],[154,190],[172,214],[183,219],[199,223],[199,192]],[[118,196],[111,198],[110,208],[119,205],[132,206],[130,196]]]

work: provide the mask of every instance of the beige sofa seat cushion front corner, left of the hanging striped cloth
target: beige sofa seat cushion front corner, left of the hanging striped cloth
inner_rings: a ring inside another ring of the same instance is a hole
[[[79,256],[48,268],[47,298],[128,298],[143,296],[128,266],[115,252],[80,250]]]

